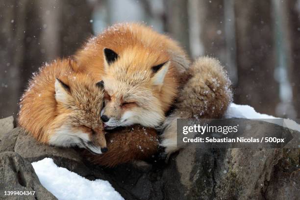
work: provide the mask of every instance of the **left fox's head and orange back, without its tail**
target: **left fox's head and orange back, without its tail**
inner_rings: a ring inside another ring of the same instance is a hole
[[[33,76],[20,102],[19,124],[44,144],[100,154],[107,151],[100,120],[103,89],[75,67],[70,59],[58,60]]]

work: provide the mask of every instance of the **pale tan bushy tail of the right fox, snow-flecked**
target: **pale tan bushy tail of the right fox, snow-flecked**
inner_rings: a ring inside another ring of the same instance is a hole
[[[231,81],[217,59],[200,57],[184,75],[186,83],[175,103],[175,111],[163,125],[161,146],[170,154],[183,147],[177,144],[177,119],[221,118],[232,101]]]

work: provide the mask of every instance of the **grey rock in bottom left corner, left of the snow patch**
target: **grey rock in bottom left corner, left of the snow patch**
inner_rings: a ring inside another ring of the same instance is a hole
[[[57,200],[40,183],[32,165],[16,152],[0,153],[1,200]],[[35,191],[34,195],[4,196],[4,191]]]

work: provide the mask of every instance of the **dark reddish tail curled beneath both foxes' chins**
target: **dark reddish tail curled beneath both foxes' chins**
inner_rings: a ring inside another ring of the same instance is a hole
[[[93,155],[88,151],[84,156],[94,164],[115,167],[132,160],[150,157],[158,150],[158,137],[152,128],[140,125],[126,127],[124,130],[105,135],[108,151],[101,155]]]

